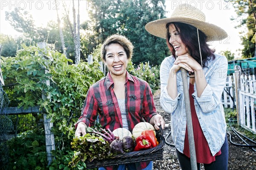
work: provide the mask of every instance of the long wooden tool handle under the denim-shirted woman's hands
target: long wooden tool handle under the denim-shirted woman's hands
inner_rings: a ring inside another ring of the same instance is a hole
[[[189,136],[189,153],[190,153],[191,170],[197,170],[195,141],[194,141],[194,133],[193,133],[193,125],[192,125],[192,117],[191,117],[191,109],[190,109],[190,101],[189,101],[187,71],[183,68],[181,68],[181,76],[183,81],[184,102],[185,102],[185,108],[186,108],[186,122],[187,122],[187,128],[188,128],[188,136]]]

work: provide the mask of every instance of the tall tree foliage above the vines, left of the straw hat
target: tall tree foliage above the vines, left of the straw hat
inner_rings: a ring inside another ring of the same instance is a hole
[[[80,27],[84,30],[81,34],[81,59],[85,60],[84,54],[91,54],[99,43],[113,34],[121,34],[131,40],[135,46],[133,62],[137,65],[148,61],[159,65],[169,55],[165,40],[145,30],[146,23],[165,17],[165,0],[92,0],[87,3],[92,3],[92,6],[88,10],[90,20],[81,23]],[[75,61],[74,24],[70,22],[70,11],[64,1],[63,6],[65,14],[60,20],[64,45],[61,44],[59,26],[55,21],[50,21],[46,28],[37,27],[32,15],[19,9],[6,12],[6,20],[24,34],[27,46],[45,41],[60,52],[63,52],[62,47],[65,46],[67,58]]]

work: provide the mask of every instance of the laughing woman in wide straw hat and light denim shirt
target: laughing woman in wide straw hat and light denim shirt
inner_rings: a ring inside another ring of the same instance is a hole
[[[228,144],[221,104],[227,75],[227,58],[214,54],[207,41],[227,33],[205,22],[205,15],[188,4],[177,6],[170,18],[148,23],[145,29],[165,38],[172,56],[160,67],[160,104],[171,113],[171,131],[182,170],[190,170],[186,110],[180,68],[188,71],[189,97],[196,159],[205,170],[227,170]]]

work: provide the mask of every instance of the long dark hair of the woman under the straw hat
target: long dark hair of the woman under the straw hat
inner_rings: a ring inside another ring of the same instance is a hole
[[[180,33],[180,39],[182,40],[183,44],[189,49],[190,55],[199,64],[201,64],[201,57],[200,57],[200,51],[199,51],[199,45],[198,45],[198,34],[199,34],[203,67],[206,66],[207,60],[215,59],[215,55],[214,55],[215,50],[209,48],[209,45],[207,44],[207,41],[206,41],[207,36],[203,32],[201,32],[199,29],[197,34],[197,28],[195,28],[194,26],[191,26],[186,23],[178,23],[178,22],[166,24],[166,29],[167,29],[166,43],[168,48],[171,50],[173,57],[176,58],[177,56],[175,55],[174,47],[172,46],[171,43],[169,43],[169,40],[170,40],[169,25],[170,24],[174,24],[175,29]]]

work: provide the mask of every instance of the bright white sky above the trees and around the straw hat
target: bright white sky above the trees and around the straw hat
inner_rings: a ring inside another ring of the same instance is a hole
[[[99,4],[93,4],[90,0],[81,0],[81,22],[87,19],[88,9],[113,6],[115,5],[115,2],[115,0],[100,0]],[[65,0],[65,3],[70,10],[70,20],[72,20],[72,0]],[[224,0],[166,0],[166,11],[168,11],[166,14],[167,17],[171,16],[175,7],[181,3],[188,3],[201,9],[206,15],[207,22],[221,27],[228,33],[229,37],[227,39],[211,43],[211,47],[215,48],[216,52],[230,50],[235,53],[236,57],[239,56],[239,51],[237,50],[243,48],[240,45],[241,40],[239,36],[241,35],[239,35],[239,32],[246,29],[234,28],[238,23],[230,20],[231,16],[237,16],[231,3]],[[77,0],[75,0],[75,6],[78,6],[77,4]],[[124,1],[123,6],[125,5],[126,3]],[[57,0],[57,3],[55,3],[54,0],[0,0],[0,33],[4,35],[12,35],[15,39],[22,36],[22,34],[16,32],[12,26],[10,26],[9,22],[5,20],[5,12],[13,11],[15,8],[29,11],[33,15],[35,24],[43,27],[47,25],[49,20],[57,20],[56,8],[59,9],[59,15],[63,13],[61,12],[63,10],[62,0]]]

